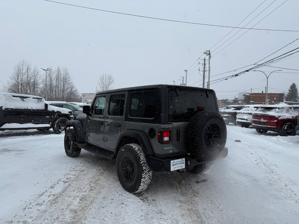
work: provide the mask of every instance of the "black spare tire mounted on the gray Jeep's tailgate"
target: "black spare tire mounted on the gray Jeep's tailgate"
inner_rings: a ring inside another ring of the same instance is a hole
[[[226,125],[216,111],[199,111],[186,130],[186,147],[198,162],[216,159],[226,143]]]

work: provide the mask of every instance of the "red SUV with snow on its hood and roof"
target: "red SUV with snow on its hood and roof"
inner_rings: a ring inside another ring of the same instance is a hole
[[[252,127],[258,133],[275,131],[280,136],[295,135],[297,114],[299,105],[265,105],[252,113]]]

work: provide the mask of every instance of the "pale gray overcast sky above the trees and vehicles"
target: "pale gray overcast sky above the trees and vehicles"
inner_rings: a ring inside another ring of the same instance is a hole
[[[299,30],[298,0],[285,3],[285,0],[57,1],[139,16],[232,27],[261,4],[238,26],[243,27],[253,19],[245,26],[251,28],[274,10],[253,28]],[[299,38],[299,32],[284,31],[234,29],[228,34],[232,28],[142,18],[43,0],[0,0],[0,21],[1,82],[8,80],[13,66],[24,58],[42,68],[67,67],[80,93],[95,92],[97,79],[103,73],[114,77],[114,88],[123,88],[173,84],[173,81],[179,84],[182,82],[180,78],[186,75],[184,70],[188,70],[187,85],[201,87],[199,63],[202,70],[205,50],[211,51],[210,80],[213,83],[213,80],[253,67],[225,73],[254,64]],[[228,36],[219,42],[226,34]],[[261,62],[298,45],[299,40]],[[298,55],[271,66],[299,69]],[[275,67],[259,70],[269,74],[279,70]],[[298,70],[283,69],[282,72],[272,73],[269,77],[269,93],[288,90],[293,82],[299,85]],[[225,74],[218,75],[220,73]],[[210,88],[216,91],[218,98],[232,99],[242,90],[253,88],[253,92],[261,92],[265,86],[266,76],[250,71],[211,84]]]

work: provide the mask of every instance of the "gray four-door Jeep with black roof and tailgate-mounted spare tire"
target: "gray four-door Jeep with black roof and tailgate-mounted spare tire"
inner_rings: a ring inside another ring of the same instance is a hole
[[[152,171],[202,173],[228,153],[216,99],[214,90],[176,85],[99,92],[66,122],[65,153],[116,158],[119,182],[131,193],[148,187]]]

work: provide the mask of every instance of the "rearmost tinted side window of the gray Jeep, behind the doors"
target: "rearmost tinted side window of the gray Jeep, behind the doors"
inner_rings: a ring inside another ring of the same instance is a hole
[[[130,99],[129,116],[154,118],[156,113],[156,93],[132,93]]]

